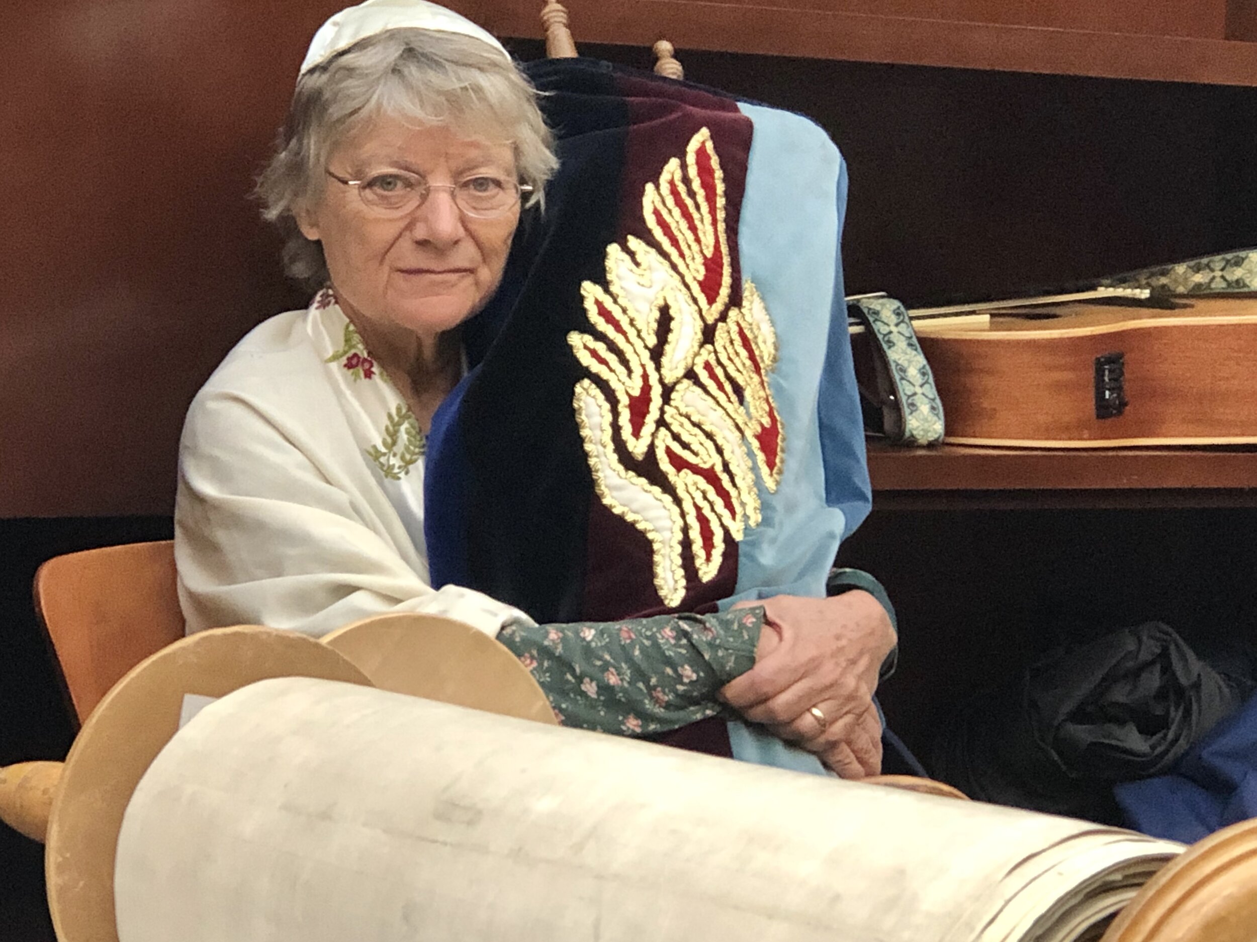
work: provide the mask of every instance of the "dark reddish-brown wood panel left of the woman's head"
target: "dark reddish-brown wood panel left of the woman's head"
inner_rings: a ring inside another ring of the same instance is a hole
[[[16,5],[0,65],[0,515],[167,511],[189,399],[289,294],[246,195],[338,4]]]

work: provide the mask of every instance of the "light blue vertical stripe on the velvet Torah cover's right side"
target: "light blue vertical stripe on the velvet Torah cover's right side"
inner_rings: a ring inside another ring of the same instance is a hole
[[[772,391],[786,430],[781,484],[759,482],[763,519],[738,544],[727,608],[771,595],[825,595],[838,544],[869,515],[872,490],[843,303],[847,171],[823,129],[798,114],[740,104],[754,122],[738,225],[743,281],[777,332]],[[735,759],[828,775],[811,752],[729,721]]]

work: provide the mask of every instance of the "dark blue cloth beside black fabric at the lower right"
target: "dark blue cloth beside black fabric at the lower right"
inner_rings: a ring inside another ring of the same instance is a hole
[[[1257,818],[1257,697],[1188,750],[1170,775],[1114,788],[1130,826],[1194,843]]]

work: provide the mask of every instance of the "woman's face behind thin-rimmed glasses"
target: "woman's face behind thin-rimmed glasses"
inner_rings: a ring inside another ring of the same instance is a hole
[[[344,180],[407,171],[440,187],[478,175],[515,181],[510,144],[459,137],[382,117],[332,151],[328,167]],[[298,215],[307,239],[323,244],[337,298],[385,332],[424,340],[458,327],[484,306],[502,280],[519,203],[494,219],[461,212],[453,190],[434,188],[403,216],[370,208],[357,187],[327,178],[322,197]]]

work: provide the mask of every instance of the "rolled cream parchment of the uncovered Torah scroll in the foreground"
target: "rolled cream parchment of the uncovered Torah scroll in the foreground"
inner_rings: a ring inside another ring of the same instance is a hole
[[[1182,850],[310,678],[127,808],[119,942],[1080,942]]]

